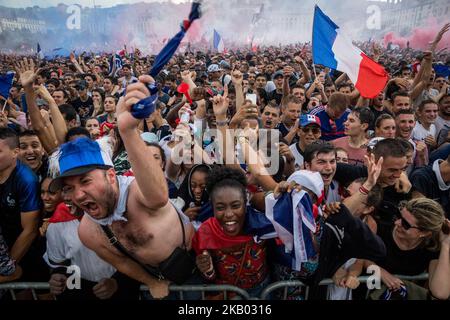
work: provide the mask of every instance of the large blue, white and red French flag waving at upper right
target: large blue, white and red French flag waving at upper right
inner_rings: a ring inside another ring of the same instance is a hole
[[[355,47],[318,6],[314,10],[313,61],[345,72],[364,98],[375,98],[388,81],[384,68]]]

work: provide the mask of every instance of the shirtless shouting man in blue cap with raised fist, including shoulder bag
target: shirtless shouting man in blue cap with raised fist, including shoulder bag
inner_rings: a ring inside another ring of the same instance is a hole
[[[141,120],[131,114],[131,107],[150,95],[144,83],[154,81],[150,76],[139,80],[127,87],[117,115],[136,178],[116,176],[99,144],[80,138],[61,147],[61,175],[53,187],[63,187],[86,213],[78,230],[83,244],[147,285],[154,298],[163,298],[170,282],[181,284],[193,274],[185,249],[194,229],[169,202],[164,173],[139,135]],[[187,277],[180,280],[181,274]]]

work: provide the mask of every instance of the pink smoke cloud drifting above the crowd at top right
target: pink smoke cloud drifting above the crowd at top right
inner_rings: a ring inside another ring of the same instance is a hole
[[[434,40],[439,30],[441,30],[443,24],[437,23],[436,18],[430,18],[427,21],[427,26],[414,28],[412,34],[408,37],[397,36],[394,32],[389,32],[384,36],[384,45],[387,46],[389,42],[400,46],[400,48],[406,48],[407,42],[413,49],[425,50],[431,41]],[[450,45],[450,32],[447,32],[439,42],[438,50],[448,47]]]

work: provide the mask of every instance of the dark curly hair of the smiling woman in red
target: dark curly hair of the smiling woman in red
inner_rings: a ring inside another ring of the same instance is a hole
[[[214,199],[218,190],[227,187],[239,189],[244,201],[247,202],[247,178],[245,174],[240,170],[224,166],[214,166],[208,176],[208,183],[206,185],[210,200],[212,201]]]

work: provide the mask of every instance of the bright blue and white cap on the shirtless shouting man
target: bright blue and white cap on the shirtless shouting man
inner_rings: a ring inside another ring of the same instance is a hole
[[[63,179],[88,173],[94,169],[113,167],[111,157],[102,150],[99,143],[87,137],[80,137],[61,145],[57,155],[60,175],[49,185],[51,192],[60,190]]]

